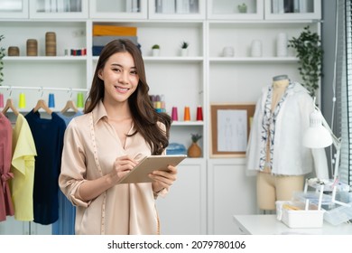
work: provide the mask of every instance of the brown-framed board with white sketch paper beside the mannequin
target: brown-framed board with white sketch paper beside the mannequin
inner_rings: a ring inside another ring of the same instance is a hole
[[[210,105],[210,114],[210,156],[245,156],[255,104]]]

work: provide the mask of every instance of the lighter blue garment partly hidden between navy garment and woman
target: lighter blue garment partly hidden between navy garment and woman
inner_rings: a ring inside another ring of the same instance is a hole
[[[66,116],[60,112],[57,113],[61,117],[66,126],[69,125],[69,121],[73,117],[82,115],[83,113],[78,111],[73,116]],[[51,233],[53,235],[74,235],[75,234],[75,218],[76,218],[76,207],[66,198],[66,196],[59,191],[59,219],[52,224]]]

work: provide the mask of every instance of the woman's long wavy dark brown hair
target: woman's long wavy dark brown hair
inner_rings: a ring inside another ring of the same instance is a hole
[[[120,39],[109,42],[104,47],[97,61],[97,69],[87,98],[85,113],[91,112],[104,98],[104,81],[99,79],[97,74],[99,70],[104,69],[109,57],[116,52],[131,53],[139,77],[137,89],[128,98],[135,127],[133,135],[140,133],[144,136],[146,143],[150,145],[152,154],[161,155],[163,149],[169,145],[171,117],[166,113],[158,113],[153,108],[148,94],[149,86],[146,82],[142,54],[134,42]],[[166,132],[158,126],[158,122],[166,126]]]

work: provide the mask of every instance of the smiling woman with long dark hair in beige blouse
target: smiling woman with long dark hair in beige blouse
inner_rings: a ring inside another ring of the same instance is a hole
[[[146,155],[165,154],[171,117],[156,113],[141,52],[128,40],[109,42],[83,116],[65,132],[60,189],[77,206],[76,234],[158,234],[155,199],[177,168],[155,171],[153,183],[117,182]]]

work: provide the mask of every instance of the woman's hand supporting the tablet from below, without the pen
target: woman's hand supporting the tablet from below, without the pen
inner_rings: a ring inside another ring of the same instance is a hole
[[[153,192],[160,192],[164,188],[169,188],[177,179],[177,167],[169,165],[169,171],[153,171],[149,176],[154,180],[152,184]]]

